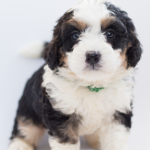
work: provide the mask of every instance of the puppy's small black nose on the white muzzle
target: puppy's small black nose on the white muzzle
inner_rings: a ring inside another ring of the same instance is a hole
[[[101,55],[99,52],[89,51],[86,53],[86,62],[91,65],[94,65],[99,62],[100,57]]]

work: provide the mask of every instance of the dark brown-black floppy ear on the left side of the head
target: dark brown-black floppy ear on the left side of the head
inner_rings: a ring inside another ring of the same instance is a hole
[[[43,52],[43,57],[51,70],[54,70],[60,65],[59,60],[62,57],[61,47],[63,46],[63,23],[71,19],[72,15],[73,11],[67,12],[58,20],[58,23],[54,28],[53,39]]]

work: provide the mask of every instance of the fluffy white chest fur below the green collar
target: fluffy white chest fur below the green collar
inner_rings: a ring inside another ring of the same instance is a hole
[[[94,132],[104,119],[111,119],[116,110],[120,112],[131,110],[133,98],[131,78],[110,84],[109,87],[96,93],[89,91],[87,87],[53,75],[46,66],[42,86],[54,99],[54,109],[64,114],[76,113],[82,116],[79,129],[81,135]]]

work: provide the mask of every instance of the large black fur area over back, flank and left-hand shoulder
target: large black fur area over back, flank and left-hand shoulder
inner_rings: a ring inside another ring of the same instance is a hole
[[[30,121],[35,126],[47,128],[49,134],[58,138],[61,143],[75,144],[79,138],[78,126],[81,117],[76,114],[65,115],[53,109],[51,103],[55,103],[55,100],[49,98],[45,89],[41,87],[43,73],[42,66],[25,86],[23,96],[19,101],[11,139],[24,138],[19,130],[19,121],[24,125]]]

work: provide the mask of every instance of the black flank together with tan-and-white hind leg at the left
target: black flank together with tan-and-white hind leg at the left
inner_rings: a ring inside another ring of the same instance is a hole
[[[41,117],[43,67],[28,80],[19,101],[9,150],[33,150],[44,132]]]

